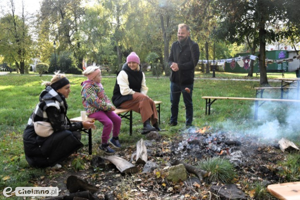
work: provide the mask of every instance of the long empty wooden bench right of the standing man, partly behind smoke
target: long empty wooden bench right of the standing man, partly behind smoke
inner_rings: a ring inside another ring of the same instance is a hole
[[[266,101],[279,101],[279,102],[298,102],[300,103],[300,100],[293,100],[293,99],[262,99],[262,98],[246,98],[246,97],[225,97],[225,96],[202,96],[202,99],[205,99],[205,115],[210,115],[210,108],[211,104],[214,103],[217,99],[232,99],[232,100],[250,100],[255,102],[255,108],[254,108],[254,120],[257,119],[258,114],[258,107],[260,107],[262,104],[264,104]],[[213,100],[211,100],[213,99]],[[261,104],[258,104],[259,101],[262,101]]]

